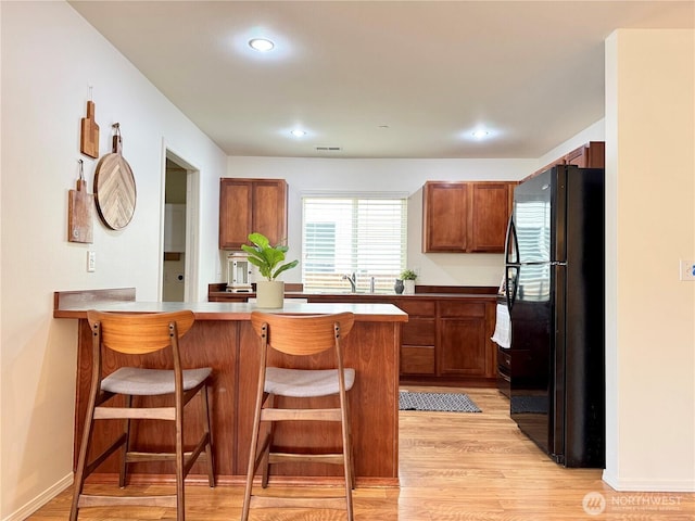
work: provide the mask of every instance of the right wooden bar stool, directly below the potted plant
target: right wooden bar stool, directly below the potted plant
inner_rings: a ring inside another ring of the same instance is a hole
[[[346,392],[355,381],[355,370],[343,367],[340,341],[350,333],[354,315],[273,315],[252,312],[251,323],[261,338],[261,365],[256,390],[256,406],[253,419],[247,487],[244,493],[241,521],[249,519],[250,508],[330,508],[344,509],[348,520],[353,519],[352,490],[355,487],[352,443],[350,434],[350,414]],[[331,350],[334,365],[327,369],[293,369],[268,367],[268,351],[276,350],[285,360],[292,357],[311,356]],[[332,408],[281,407],[276,397],[298,398],[338,396],[340,406]],[[340,422],[342,432],[342,452],[300,453],[279,452],[273,445],[274,424],[277,421],[331,421]],[[263,442],[258,443],[262,423],[267,425]],[[345,493],[339,497],[287,497],[253,495],[253,479],[262,467],[262,486],[268,484],[268,467],[286,462],[321,462],[341,465],[344,469]]]

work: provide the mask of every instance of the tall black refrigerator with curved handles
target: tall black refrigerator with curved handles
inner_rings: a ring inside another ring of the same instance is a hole
[[[605,467],[604,170],[516,187],[505,247],[510,416],[566,467]]]

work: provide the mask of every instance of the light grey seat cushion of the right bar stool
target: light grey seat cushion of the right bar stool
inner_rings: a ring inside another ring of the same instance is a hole
[[[345,390],[355,383],[355,370],[344,369]],[[338,369],[305,370],[268,367],[265,372],[265,392],[278,396],[309,398],[338,394]]]

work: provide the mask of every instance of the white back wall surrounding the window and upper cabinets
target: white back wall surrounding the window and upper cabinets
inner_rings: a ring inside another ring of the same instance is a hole
[[[407,192],[408,266],[419,268],[418,284],[494,285],[503,274],[501,254],[424,254],[422,185],[427,180],[519,180],[536,168],[535,160],[329,160],[229,157],[227,177],[282,178],[289,185],[288,258],[300,258],[302,192]],[[287,271],[300,282],[301,270]],[[224,281],[218,270],[218,281]]]

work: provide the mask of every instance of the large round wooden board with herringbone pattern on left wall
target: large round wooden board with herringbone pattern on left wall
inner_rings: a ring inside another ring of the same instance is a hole
[[[112,230],[128,226],[132,214],[137,191],[130,165],[123,157],[121,134],[116,128],[113,137],[113,153],[104,155],[94,171],[94,199],[101,220]]]

